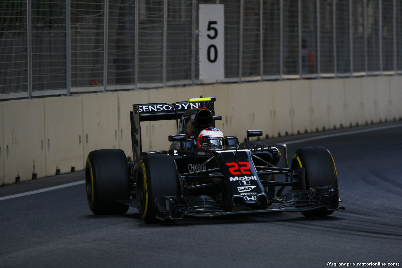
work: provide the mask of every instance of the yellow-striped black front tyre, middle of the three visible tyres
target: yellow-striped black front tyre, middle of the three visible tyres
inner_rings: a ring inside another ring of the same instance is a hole
[[[180,195],[180,182],[176,162],[170,155],[146,155],[139,161],[136,176],[137,205],[146,223],[160,223],[155,216],[157,196]]]

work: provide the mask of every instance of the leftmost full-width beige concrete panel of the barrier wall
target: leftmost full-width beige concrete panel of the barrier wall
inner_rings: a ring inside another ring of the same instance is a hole
[[[45,177],[44,100],[18,100],[3,103],[4,181],[14,183]]]

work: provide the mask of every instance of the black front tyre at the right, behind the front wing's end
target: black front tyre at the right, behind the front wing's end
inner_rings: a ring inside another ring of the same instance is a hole
[[[299,183],[299,190],[315,187],[332,186],[338,188],[338,176],[331,153],[323,146],[310,146],[296,150],[291,168],[304,168],[304,186]],[[336,197],[338,200],[338,197]],[[336,201],[338,202],[338,201]],[[301,212],[306,217],[322,217],[332,214],[333,210],[316,209]]]

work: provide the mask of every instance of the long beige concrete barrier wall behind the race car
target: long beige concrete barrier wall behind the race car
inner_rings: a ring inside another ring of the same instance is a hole
[[[121,148],[132,158],[133,103],[216,97],[225,135],[284,136],[402,117],[402,76],[285,80],[92,93],[0,103],[0,184],[84,169],[91,150]],[[172,121],[143,122],[144,150],[166,150]]]

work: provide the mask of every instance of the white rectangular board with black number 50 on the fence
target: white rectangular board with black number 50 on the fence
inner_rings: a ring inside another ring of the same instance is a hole
[[[224,5],[199,4],[199,79],[224,79]]]

